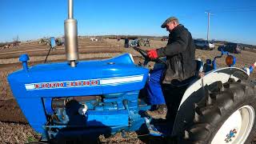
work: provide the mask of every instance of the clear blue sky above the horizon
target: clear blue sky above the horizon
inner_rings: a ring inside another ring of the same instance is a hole
[[[194,38],[256,45],[254,0],[74,0],[78,35],[168,35],[160,26],[176,16]],[[0,42],[64,34],[67,0],[0,0]]]

